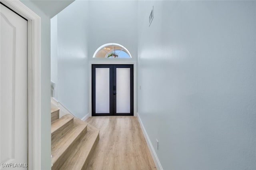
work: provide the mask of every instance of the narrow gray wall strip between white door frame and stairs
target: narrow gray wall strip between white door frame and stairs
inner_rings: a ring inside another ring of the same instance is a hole
[[[51,111],[50,111],[50,18],[31,1],[23,4],[41,17],[41,169],[51,169]]]

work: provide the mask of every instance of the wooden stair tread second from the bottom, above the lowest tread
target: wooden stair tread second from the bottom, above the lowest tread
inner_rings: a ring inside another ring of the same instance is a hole
[[[68,133],[62,136],[58,141],[52,144],[52,164],[54,164],[64,152],[70,148],[73,142],[83,138],[87,132],[87,123],[80,119],[74,119],[74,126]],[[75,145],[75,144],[73,144]]]

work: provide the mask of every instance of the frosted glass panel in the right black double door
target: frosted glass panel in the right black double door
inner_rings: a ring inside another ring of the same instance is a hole
[[[116,113],[130,113],[130,68],[116,68]]]

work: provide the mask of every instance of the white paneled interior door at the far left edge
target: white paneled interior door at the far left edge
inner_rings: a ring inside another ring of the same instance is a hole
[[[23,170],[28,163],[27,21],[0,5],[0,167]]]

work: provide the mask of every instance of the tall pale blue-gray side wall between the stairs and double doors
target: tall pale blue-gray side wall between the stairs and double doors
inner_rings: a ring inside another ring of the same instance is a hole
[[[57,15],[58,101],[76,117],[88,113],[88,1]]]

